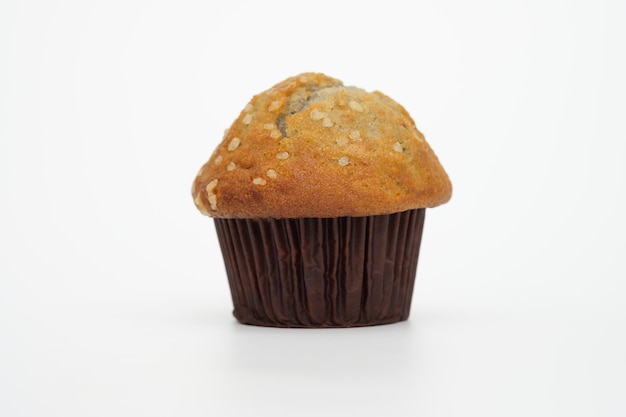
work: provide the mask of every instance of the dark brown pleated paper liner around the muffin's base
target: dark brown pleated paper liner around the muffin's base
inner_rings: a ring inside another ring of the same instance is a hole
[[[272,327],[406,320],[424,215],[214,219],[234,316]]]

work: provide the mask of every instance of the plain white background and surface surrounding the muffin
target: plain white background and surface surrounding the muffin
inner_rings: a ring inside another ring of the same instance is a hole
[[[625,11],[3,0],[0,416],[626,415]],[[304,71],[402,103],[453,181],[408,322],[231,315],[191,183]]]

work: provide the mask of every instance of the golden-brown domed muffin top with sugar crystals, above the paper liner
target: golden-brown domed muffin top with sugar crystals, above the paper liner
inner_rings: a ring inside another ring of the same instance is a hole
[[[434,207],[452,185],[401,105],[305,73],[252,98],[192,194],[211,217],[343,217]]]

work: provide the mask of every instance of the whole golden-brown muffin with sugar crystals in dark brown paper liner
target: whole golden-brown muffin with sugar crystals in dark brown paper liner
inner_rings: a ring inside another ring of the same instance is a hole
[[[425,209],[451,193],[401,105],[317,73],[254,96],[192,188],[234,316],[275,327],[406,320]]]

